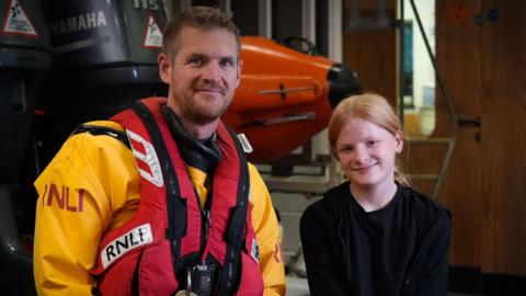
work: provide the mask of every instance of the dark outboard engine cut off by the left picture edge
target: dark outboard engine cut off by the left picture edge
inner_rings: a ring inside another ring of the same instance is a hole
[[[15,194],[37,93],[52,68],[39,0],[0,1],[0,294],[34,295],[30,249],[21,247]],[[34,204],[32,204],[34,207]]]

